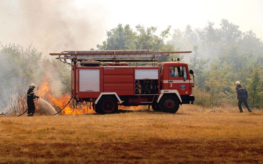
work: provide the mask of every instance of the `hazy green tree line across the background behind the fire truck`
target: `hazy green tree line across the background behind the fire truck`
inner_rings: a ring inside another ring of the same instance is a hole
[[[158,58],[158,62],[180,57],[189,63],[189,68],[195,73],[196,87],[193,95],[196,97],[196,104],[236,105],[235,81],[239,80],[248,90],[250,105],[255,108],[263,107],[262,40],[252,30],[242,32],[239,26],[228,20],[222,19],[220,28],[215,28],[213,22],[208,22],[203,28],[192,29],[187,25],[184,31],[174,29],[172,32],[171,26],[167,26],[167,29],[159,34],[157,27],[137,25],[132,29],[128,24],[119,24],[107,31],[106,40],[98,44],[96,49],[193,51],[187,55],[172,54]],[[47,74],[59,79],[63,86],[61,94],[70,93],[69,65],[56,59],[43,58],[42,53],[31,46],[24,49],[15,44],[1,45],[0,56],[2,109],[8,107],[10,99],[19,101],[14,95],[23,95],[30,83],[34,81],[40,84]]]

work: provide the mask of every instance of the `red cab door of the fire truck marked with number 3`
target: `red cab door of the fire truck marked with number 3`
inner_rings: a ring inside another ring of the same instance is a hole
[[[169,89],[178,90],[180,95],[189,95],[189,77],[187,77],[187,67],[184,65],[180,66],[169,66],[169,77],[168,84]]]

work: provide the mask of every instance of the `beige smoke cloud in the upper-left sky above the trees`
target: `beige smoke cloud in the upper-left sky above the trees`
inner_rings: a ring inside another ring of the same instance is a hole
[[[99,3],[80,6],[75,1],[0,2],[0,42],[26,47],[32,44],[46,56],[64,50],[89,50],[106,35]],[[90,9],[89,7],[92,7]],[[96,23],[95,23],[96,22]],[[103,22],[103,23],[102,23]],[[104,39],[103,39],[104,38]]]

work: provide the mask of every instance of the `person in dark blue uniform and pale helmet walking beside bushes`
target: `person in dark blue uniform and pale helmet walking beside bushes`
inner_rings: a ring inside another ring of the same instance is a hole
[[[249,112],[252,112],[252,110],[250,109],[249,105],[248,105],[248,92],[245,89],[245,87],[241,86],[240,81],[235,82],[236,85],[236,93],[237,93],[237,99],[238,99],[238,107],[239,107],[239,111],[240,113],[243,113],[241,104],[244,103],[245,106],[247,107]]]

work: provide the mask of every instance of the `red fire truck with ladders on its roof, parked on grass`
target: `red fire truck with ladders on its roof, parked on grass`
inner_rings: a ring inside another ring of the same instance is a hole
[[[100,114],[115,113],[119,105],[151,105],[154,111],[175,113],[179,105],[193,104],[193,71],[179,58],[159,63],[157,58],[190,52],[104,50],[50,55],[71,65],[71,93],[76,104],[92,103]]]

